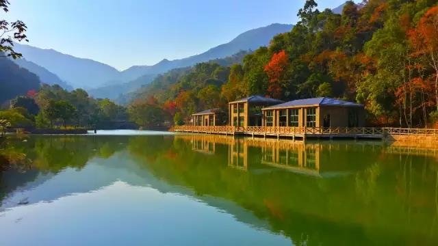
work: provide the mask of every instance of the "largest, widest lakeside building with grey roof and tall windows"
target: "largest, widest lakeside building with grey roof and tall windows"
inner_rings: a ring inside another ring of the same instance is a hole
[[[263,126],[363,127],[363,105],[334,98],[308,98],[265,107]]]

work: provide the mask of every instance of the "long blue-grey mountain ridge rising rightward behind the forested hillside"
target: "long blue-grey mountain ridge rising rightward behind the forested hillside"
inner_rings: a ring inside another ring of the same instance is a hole
[[[131,68],[124,70],[122,74],[160,74],[167,72],[172,68],[193,66],[203,61],[227,57],[238,53],[239,51],[255,50],[260,46],[267,46],[274,36],[279,33],[290,31],[292,27],[294,27],[294,25],[275,23],[266,27],[252,29],[240,34],[226,44],[216,46],[199,55],[193,55],[191,57],[175,59],[172,61],[163,59],[153,66],[132,66]],[[131,75],[131,77],[135,77],[135,75]]]

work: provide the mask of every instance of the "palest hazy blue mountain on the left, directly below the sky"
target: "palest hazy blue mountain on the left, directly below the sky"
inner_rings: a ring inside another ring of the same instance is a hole
[[[22,53],[27,61],[46,68],[75,88],[99,87],[117,81],[120,73],[112,66],[53,49],[40,49],[25,44],[14,44],[14,49]]]

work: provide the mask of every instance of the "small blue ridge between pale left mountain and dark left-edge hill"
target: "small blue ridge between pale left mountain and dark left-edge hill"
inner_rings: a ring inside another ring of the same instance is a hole
[[[57,77],[56,74],[53,74],[46,68],[43,68],[42,66],[39,66],[37,64],[34,64],[32,61],[27,61],[27,59],[16,59],[13,60],[18,66],[21,66],[21,68],[26,68],[29,70],[29,72],[33,72],[38,77],[40,77],[40,81],[42,83],[47,83],[49,85],[60,85],[66,90],[73,90],[73,87],[68,85],[66,82],[62,81],[60,77]]]

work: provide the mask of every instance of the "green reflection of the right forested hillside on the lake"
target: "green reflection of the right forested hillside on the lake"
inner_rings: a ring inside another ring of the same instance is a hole
[[[203,144],[194,145],[196,141]],[[318,169],[316,163],[306,167],[318,170],[321,175],[317,178],[263,165],[263,147],[252,143],[253,139],[212,137],[215,154],[194,150],[193,146],[203,150],[209,146],[205,141],[205,136],[196,139],[196,135],[177,135],[173,143],[163,137],[155,139],[156,145],[165,146],[161,151],[149,151],[140,141],[139,146],[131,146],[136,144],[131,141],[129,148],[142,150],[137,153],[146,160],[142,165],[157,178],[190,187],[200,196],[231,200],[269,221],[273,232],[289,236],[296,244],[302,240],[309,245],[369,245],[437,239],[426,233],[438,229],[433,225],[435,172],[430,172],[433,161],[426,157],[416,158],[426,166],[415,163],[406,176],[398,156],[385,153],[385,146],[380,144],[309,143],[311,147],[296,148],[308,155],[318,154]],[[294,150],[281,146],[288,145],[276,141],[266,146],[277,154],[276,165],[285,165],[281,153],[286,156],[287,151]],[[229,153],[235,150],[246,153],[247,172],[229,167]],[[410,177],[411,187],[406,188],[410,199],[397,192],[400,175]],[[370,238],[376,241],[368,241]]]

